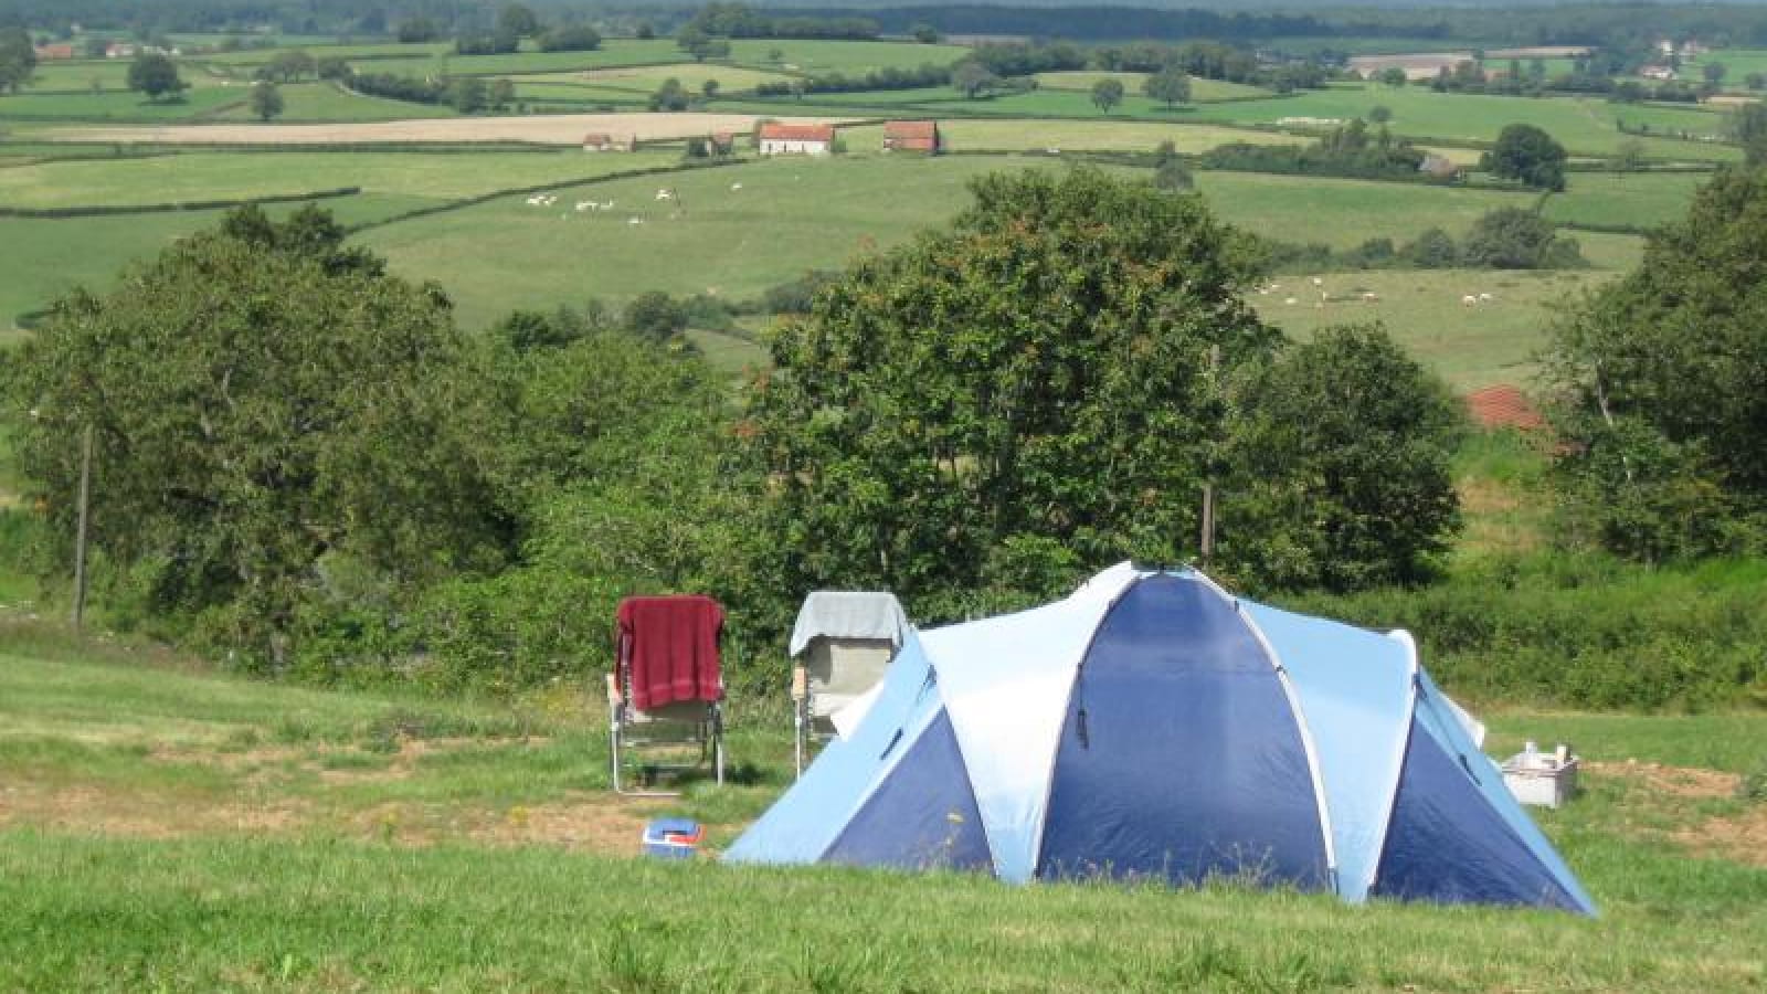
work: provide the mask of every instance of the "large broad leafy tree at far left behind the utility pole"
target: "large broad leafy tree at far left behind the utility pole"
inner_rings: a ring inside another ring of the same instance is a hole
[[[341,241],[311,207],[240,209],[117,292],[65,297],[9,363],[14,453],[57,539],[90,426],[110,582],[254,667],[288,663],[302,605],[343,573],[410,591],[505,548],[479,470],[498,421],[447,301]]]

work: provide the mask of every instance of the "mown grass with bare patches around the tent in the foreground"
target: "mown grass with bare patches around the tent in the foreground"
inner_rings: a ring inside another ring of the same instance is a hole
[[[790,778],[739,715],[737,784],[606,785],[590,697],[519,706],[217,677],[0,628],[0,990],[1749,990],[1767,983],[1767,718],[1500,715],[1589,738],[1541,821],[1599,920],[1346,907],[1223,884],[631,858],[648,817],[728,844]],[[1597,734],[1599,729],[1599,734]],[[1705,743],[1703,746],[1700,743]],[[1723,746],[1723,748],[1719,748]],[[1716,768],[1666,766],[1710,757]],[[1749,865],[1755,860],[1755,865]]]

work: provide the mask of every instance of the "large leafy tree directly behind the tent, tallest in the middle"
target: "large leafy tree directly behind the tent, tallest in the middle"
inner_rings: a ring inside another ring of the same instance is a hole
[[[1094,168],[990,175],[947,230],[855,262],[781,324],[742,435],[783,589],[882,585],[954,617],[1194,550],[1232,373],[1276,333],[1240,235]]]

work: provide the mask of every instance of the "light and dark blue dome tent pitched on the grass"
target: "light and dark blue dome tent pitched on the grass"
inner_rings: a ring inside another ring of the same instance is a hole
[[[852,734],[726,860],[1594,914],[1407,633],[1131,564],[910,635]]]

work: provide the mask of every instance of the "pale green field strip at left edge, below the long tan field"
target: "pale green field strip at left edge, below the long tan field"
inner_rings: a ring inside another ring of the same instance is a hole
[[[537,152],[182,152],[140,159],[46,163],[0,170],[9,207],[246,200],[359,186],[431,200],[668,166],[679,152],[587,156]]]

